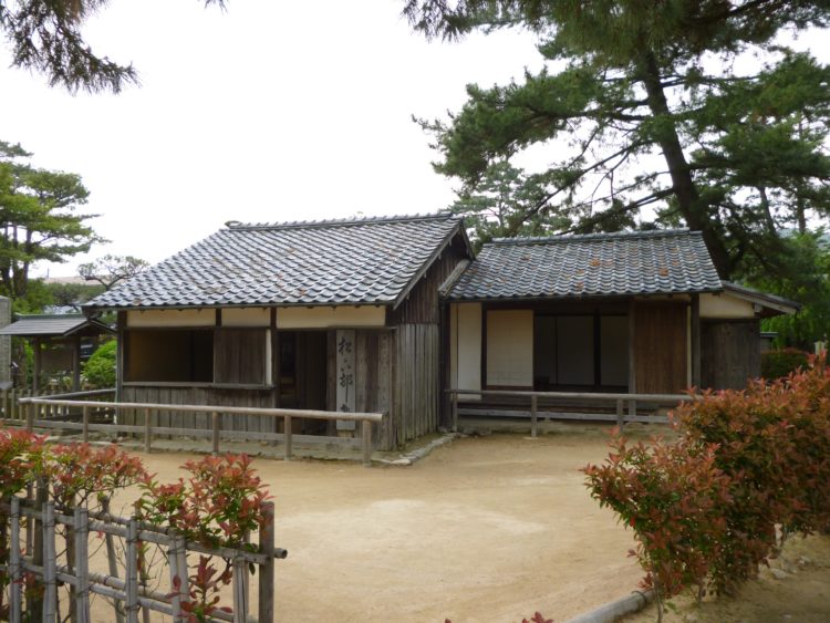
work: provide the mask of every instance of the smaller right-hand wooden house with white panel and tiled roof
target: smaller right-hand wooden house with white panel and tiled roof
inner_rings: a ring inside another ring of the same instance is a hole
[[[759,319],[798,309],[722,281],[687,230],[497,240],[447,298],[450,385],[477,391],[743,387]]]

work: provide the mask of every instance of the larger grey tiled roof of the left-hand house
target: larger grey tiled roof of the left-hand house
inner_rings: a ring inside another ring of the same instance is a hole
[[[84,307],[388,304],[460,229],[447,215],[228,222]]]

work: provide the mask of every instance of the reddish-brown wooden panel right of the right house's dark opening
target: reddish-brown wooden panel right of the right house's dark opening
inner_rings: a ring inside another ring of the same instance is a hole
[[[673,394],[688,385],[687,305],[634,304],[635,388],[640,394]]]

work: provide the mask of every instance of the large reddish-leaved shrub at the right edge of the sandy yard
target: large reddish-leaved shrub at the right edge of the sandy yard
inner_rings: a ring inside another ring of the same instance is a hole
[[[612,442],[587,486],[637,540],[645,585],[734,593],[789,534],[830,528],[830,370],[707,392],[673,414],[679,440]]]

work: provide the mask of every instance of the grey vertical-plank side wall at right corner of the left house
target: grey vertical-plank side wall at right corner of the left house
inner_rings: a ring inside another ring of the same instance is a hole
[[[392,433],[396,444],[438,428],[440,340],[437,324],[397,328],[395,406]]]

